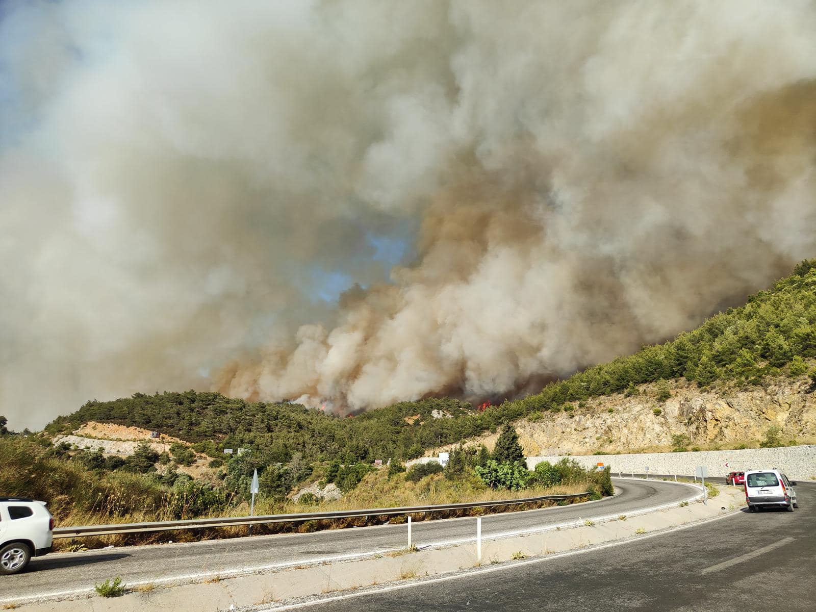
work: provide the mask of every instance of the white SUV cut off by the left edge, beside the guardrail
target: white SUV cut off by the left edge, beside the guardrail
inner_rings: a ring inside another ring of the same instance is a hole
[[[51,552],[54,519],[45,502],[0,497],[0,574],[16,574]]]

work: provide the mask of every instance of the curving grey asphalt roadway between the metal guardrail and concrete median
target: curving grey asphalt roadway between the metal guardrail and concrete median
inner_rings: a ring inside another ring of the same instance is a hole
[[[597,502],[495,514],[482,519],[482,534],[534,530],[580,518],[632,514],[638,509],[675,504],[698,494],[689,486],[661,481],[619,481],[620,494]],[[420,547],[462,539],[474,539],[472,518],[415,522],[414,542]],[[407,528],[375,526],[322,531],[314,534],[266,535],[209,542],[116,548],[74,554],[55,554],[34,559],[29,570],[0,579],[0,605],[49,593],[92,588],[106,578],[122,576],[128,584],[161,582],[197,574],[228,575],[236,570],[275,565],[299,565],[344,555],[405,548]]]

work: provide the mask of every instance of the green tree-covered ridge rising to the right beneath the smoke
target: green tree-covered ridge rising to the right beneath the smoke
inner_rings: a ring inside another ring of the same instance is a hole
[[[67,431],[87,420],[153,428],[212,455],[251,446],[270,462],[296,453],[307,460],[344,463],[410,459],[537,411],[571,410],[570,402],[627,392],[634,385],[685,378],[700,387],[762,385],[776,375],[801,375],[816,357],[816,259],[747,304],[711,317],[698,329],[629,357],[588,368],[542,392],[475,410],[450,398],[404,401],[341,418],[320,410],[231,399],[212,392],[164,392],[115,401],[89,401],[48,425]],[[816,379],[816,373],[814,373]],[[435,412],[436,411],[436,412]],[[437,416],[435,417],[434,414]],[[418,417],[418,418],[414,418]]]

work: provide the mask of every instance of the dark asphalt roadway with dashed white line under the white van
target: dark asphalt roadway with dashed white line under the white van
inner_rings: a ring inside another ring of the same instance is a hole
[[[800,483],[796,494],[796,512],[746,510],[612,548],[521,561],[303,610],[813,612],[816,485]]]

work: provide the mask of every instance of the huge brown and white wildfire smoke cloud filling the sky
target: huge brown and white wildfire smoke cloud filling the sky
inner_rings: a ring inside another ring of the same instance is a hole
[[[0,17],[14,428],[165,388],[505,397],[816,252],[812,2]]]

